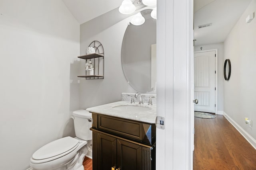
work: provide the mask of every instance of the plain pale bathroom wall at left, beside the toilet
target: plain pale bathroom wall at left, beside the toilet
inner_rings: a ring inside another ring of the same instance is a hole
[[[62,0],[0,4],[0,170],[25,170],[37,149],[74,135],[69,79],[80,25]]]

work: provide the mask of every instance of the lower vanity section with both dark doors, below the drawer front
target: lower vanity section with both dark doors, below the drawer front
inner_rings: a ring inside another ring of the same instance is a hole
[[[156,146],[146,146],[92,129],[93,170],[155,170]]]

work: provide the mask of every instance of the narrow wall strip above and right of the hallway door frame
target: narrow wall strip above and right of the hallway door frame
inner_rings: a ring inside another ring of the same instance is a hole
[[[195,46],[194,51],[201,51],[200,47],[203,47],[202,50],[218,49],[218,112],[223,113],[223,59],[224,59],[224,44],[208,44]]]

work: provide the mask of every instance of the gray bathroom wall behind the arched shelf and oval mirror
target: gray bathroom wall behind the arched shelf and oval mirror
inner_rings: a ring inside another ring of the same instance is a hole
[[[122,40],[130,19],[116,8],[80,26],[80,55],[86,54],[86,48],[94,40],[104,47],[104,79],[80,78],[81,109],[120,101],[122,92],[136,93],[127,83],[121,64]],[[85,74],[82,59],[80,74]],[[151,93],[155,94],[154,91]]]

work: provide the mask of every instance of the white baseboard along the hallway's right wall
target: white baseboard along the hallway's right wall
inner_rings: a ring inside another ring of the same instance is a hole
[[[254,149],[256,149],[256,140],[247,133],[240,125],[238,125],[231,117],[228,116],[227,113],[223,111],[223,115],[226,117],[226,119],[238,130],[239,133],[248,141]]]

